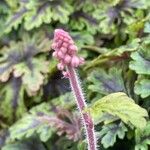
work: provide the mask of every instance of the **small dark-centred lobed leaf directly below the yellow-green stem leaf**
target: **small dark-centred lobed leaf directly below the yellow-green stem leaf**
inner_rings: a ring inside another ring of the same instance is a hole
[[[111,123],[104,125],[102,130],[99,132],[101,143],[103,144],[104,148],[113,146],[116,142],[116,138],[118,137],[123,139],[125,137],[125,132],[127,131],[127,128],[122,122],[119,124]]]

